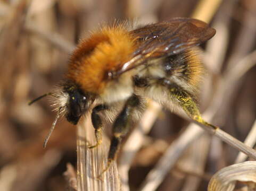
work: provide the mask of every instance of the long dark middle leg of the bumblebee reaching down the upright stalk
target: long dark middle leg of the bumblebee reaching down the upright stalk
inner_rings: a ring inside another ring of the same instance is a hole
[[[115,159],[117,152],[120,148],[122,137],[125,136],[129,130],[130,125],[133,117],[133,112],[136,107],[140,104],[140,100],[137,95],[131,95],[131,97],[126,101],[125,106],[123,107],[122,111],[118,115],[117,119],[115,119],[113,124],[113,138],[110,144],[110,150],[108,155],[108,164],[106,168],[100,173],[98,176],[101,177],[102,174],[107,171],[113,160]]]

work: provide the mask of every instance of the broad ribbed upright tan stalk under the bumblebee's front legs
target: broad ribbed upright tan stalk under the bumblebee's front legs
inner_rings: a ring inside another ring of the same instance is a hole
[[[120,180],[115,161],[112,162],[110,169],[102,175],[101,180],[96,178],[106,167],[109,141],[103,138],[104,144],[94,149],[88,149],[88,145],[95,142],[90,118],[80,123],[77,129],[78,190],[120,190]]]

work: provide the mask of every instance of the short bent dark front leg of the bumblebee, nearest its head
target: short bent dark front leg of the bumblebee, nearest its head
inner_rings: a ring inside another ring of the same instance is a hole
[[[98,112],[108,109],[106,105],[98,105],[93,108],[92,112],[92,123],[95,128],[96,144],[89,146],[89,149],[93,149],[102,143],[102,120]]]

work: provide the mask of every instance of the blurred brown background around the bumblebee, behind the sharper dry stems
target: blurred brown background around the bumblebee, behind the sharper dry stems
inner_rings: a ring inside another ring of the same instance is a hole
[[[202,1],[2,0],[0,190],[67,189],[68,183],[63,172],[67,169],[67,163],[76,168],[76,127],[61,120],[46,149],[43,149],[44,137],[55,114],[47,99],[32,106],[27,103],[50,92],[62,79],[69,55],[81,37],[97,28],[99,23],[113,18],[138,18],[141,23],[151,23],[177,16],[189,17],[200,2]],[[200,95],[202,111],[210,105],[217,89],[216,84],[230,68],[249,54],[254,53],[249,60],[252,65],[256,59],[256,1],[225,0],[218,7],[208,8],[209,10],[204,11],[208,13],[213,9],[210,24],[217,29],[217,34],[211,40],[211,45],[207,46],[204,58],[209,72]],[[239,77],[236,84],[226,84],[225,88],[230,88],[230,91],[220,100],[223,105],[211,121],[241,141],[244,141],[256,118],[255,82],[256,68],[252,67]],[[186,120],[169,111],[160,114],[131,166],[131,190],[136,190],[141,185],[147,172],[187,125]],[[201,150],[197,147],[191,152],[200,153]],[[213,139],[209,150],[204,154],[202,173],[193,173],[181,164],[177,165],[164,178],[158,190],[192,190],[189,186],[184,188],[189,176],[200,179],[194,190],[207,190],[211,175],[232,164],[237,153],[232,147]]]

